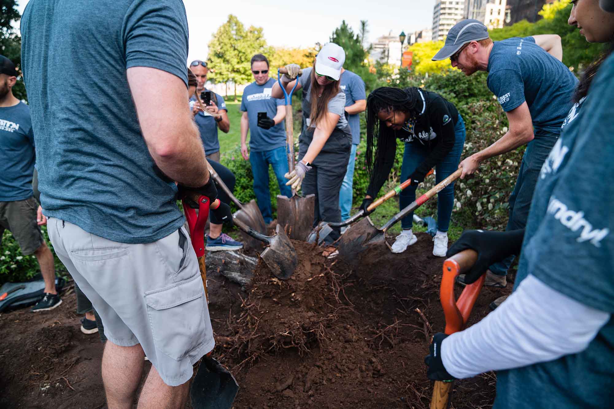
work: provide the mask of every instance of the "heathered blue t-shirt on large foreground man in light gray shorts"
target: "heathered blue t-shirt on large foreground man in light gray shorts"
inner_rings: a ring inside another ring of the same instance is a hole
[[[126,69],[153,67],[187,86],[187,50],[181,0],[28,3],[21,64],[45,215],[122,243],[182,226],[177,188],[149,155]]]

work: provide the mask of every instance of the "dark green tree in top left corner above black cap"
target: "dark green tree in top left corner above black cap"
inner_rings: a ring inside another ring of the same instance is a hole
[[[0,55],[4,55],[15,63],[18,71],[21,72],[21,37],[12,27],[13,21],[18,21],[21,15],[17,11],[17,1],[2,0],[0,3]],[[19,99],[27,101],[26,87],[23,79],[17,78],[17,83],[13,87],[13,94]]]

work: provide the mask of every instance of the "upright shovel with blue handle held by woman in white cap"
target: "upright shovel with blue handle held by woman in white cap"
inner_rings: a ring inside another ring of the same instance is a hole
[[[281,83],[280,74],[287,74],[286,68],[278,68],[277,81],[286,99],[286,147],[288,155],[288,171],[294,170],[294,124],[292,122],[292,94],[297,88],[298,81],[290,94]],[[305,197],[298,196],[292,189],[292,197],[277,195],[277,223],[282,226],[290,239],[305,240],[313,227],[314,208],[316,207],[316,195],[308,194]]]

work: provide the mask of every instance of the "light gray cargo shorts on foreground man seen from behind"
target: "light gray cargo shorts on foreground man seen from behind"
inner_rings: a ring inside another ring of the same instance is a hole
[[[125,244],[57,218],[47,226],[56,254],[99,313],[109,341],[140,343],[169,386],[190,380],[192,365],[215,343],[185,227],[157,242]]]

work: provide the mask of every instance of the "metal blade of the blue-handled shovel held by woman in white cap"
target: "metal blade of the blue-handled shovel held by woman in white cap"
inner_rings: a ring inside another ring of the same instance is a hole
[[[305,240],[313,228],[316,195],[305,197],[277,195],[277,223],[294,240]]]

